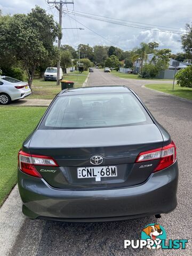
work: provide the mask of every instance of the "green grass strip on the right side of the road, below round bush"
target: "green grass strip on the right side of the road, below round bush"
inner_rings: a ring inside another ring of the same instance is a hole
[[[178,84],[174,85],[174,92],[172,91],[173,84],[147,84],[146,87],[161,92],[173,94],[182,98],[192,100],[192,88],[181,87]]]

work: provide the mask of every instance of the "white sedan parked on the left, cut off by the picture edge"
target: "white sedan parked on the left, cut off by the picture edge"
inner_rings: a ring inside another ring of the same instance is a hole
[[[0,104],[6,105],[31,94],[27,82],[9,76],[0,76]]]

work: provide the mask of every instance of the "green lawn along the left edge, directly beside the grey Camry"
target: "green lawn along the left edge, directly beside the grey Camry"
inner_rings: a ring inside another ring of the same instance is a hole
[[[0,106],[0,205],[17,182],[17,154],[43,116],[44,107]]]

